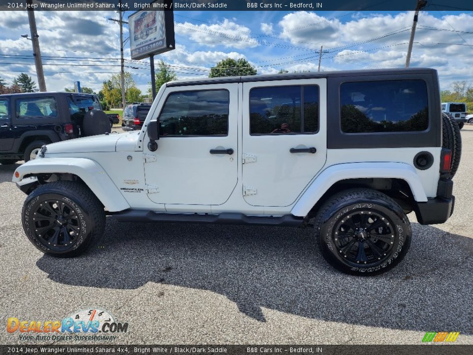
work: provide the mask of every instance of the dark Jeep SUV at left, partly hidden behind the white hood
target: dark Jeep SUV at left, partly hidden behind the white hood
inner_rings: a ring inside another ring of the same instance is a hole
[[[35,92],[0,95],[0,163],[34,159],[44,144],[107,132],[92,94]]]

